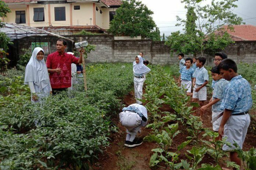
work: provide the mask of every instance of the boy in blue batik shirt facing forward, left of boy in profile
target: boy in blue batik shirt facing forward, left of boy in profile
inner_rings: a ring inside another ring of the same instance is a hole
[[[179,70],[179,80],[178,83],[180,83],[181,80],[181,86],[184,87],[185,89],[188,89],[186,91],[186,95],[190,96],[191,95],[191,80],[193,78],[193,73],[194,70],[191,68],[191,63],[193,62],[193,60],[191,58],[187,58],[185,60],[185,64],[186,66],[181,67],[181,69]]]

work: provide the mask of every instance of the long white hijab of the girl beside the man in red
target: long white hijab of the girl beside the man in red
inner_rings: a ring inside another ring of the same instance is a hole
[[[50,85],[50,78],[45,64],[45,60],[38,60],[36,58],[37,54],[40,51],[43,51],[43,49],[40,47],[36,47],[32,53],[28,64],[26,65],[24,84],[28,84],[28,82],[33,82],[38,86],[39,90],[41,91],[47,85]]]

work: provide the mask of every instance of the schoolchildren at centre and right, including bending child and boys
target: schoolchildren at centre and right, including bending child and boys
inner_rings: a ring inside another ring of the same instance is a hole
[[[178,83],[182,88],[187,89],[186,95],[192,96],[192,102],[199,100],[201,121],[203,121],[202,115],[211,107],[213,130],[219,133],[218,140],[226,137],[232,146],[224,144],[223,150],[234,149],[234,143],[242,149],[250,124],[248,113],[252,107],[252,96],[249,82],[237,73],[237,64],[228,59],[224,52],[215,54],[213,59],[215,66],[211,69],[213,93],[209,103],[205,104],[207,101],[206,85],[209,83],[208,71],[204,67],[206,58],[184,59],[183,53],[179,53],[178,58],[180,60]],[[123,108],[119,114],[121,124],[127,128],[124,144],[127,147],[142,144],[142,140],[136,139],[135,136],[141,132],[141,127],[147,124],[147,110],[138,100],[142,99],[145,75],[150,72],[147,64],[148,61],[145,63],[143,59],[143,53],[136,56],[133,62],[136,104]],[[191,93],[192,86],[193,93]],[[241,165],[237,152],[231,151],[230,159]]]

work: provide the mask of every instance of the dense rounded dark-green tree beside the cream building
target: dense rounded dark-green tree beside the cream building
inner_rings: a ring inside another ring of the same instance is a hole
[[[123,0],[110,22],[109,32],[115,36],[142,36],[157,39],[156,23],[153,12],[137,0]]]

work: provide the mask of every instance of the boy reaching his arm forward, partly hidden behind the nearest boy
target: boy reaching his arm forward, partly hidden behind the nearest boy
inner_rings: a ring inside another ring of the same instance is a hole
[[[228,81],[223,78],[223,76],[220,74],[220,71],[218,71],[218,67],[215,66],[211,69],[211,76],[213,80],[216,82],[215,88],[213,90],[213,100],[210,101],[210,103],[206,104],[205,106],[201,107],[201,111],[205,112],[207,108],[212,106],[211,112],[212,112],[212,119],[216,118],[223,110],[221,110],[220,105],[224,94],[224,89],[228,84]],[[215,132],[218,132],[218,129],[220,127],[220,121],[221,118],[217,119],[213,122],[213,130]]]

